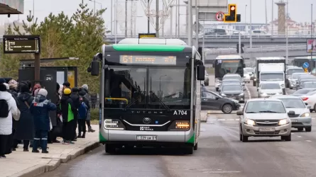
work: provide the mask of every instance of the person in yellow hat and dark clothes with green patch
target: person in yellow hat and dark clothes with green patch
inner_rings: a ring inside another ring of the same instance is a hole
[[[60,99],[60,109],[62,113],[62,144],[74,144],[72,142],[72,136],[74,130],[75,123],[75,105],[70,98],[71,90],[65,88],[62,94],[62,98]]]

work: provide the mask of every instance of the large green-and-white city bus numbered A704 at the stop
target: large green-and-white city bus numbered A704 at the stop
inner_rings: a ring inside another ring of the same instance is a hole
[[[100,68],[99,142],[105,152],[197,150],[205,66],[195,47],[178,39],[126,38],[102,45],[88,72],[98,76]]]

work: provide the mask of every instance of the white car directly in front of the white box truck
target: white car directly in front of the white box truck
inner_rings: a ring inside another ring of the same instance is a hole
[[[274,95],[283,95],[280,84],[276,82],[266,81],[258,88],[258,98],[268,98]]]

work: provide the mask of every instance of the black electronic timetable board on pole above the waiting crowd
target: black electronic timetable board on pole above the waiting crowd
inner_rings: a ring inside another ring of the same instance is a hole
[[[40,36],[4,35],[4,53],[40,53]]]

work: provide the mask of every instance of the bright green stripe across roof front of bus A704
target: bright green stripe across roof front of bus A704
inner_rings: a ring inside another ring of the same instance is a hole
[[[182,45],[112,45],[118,51],[137,51],[137,52],[181,52],[185,49]]]

